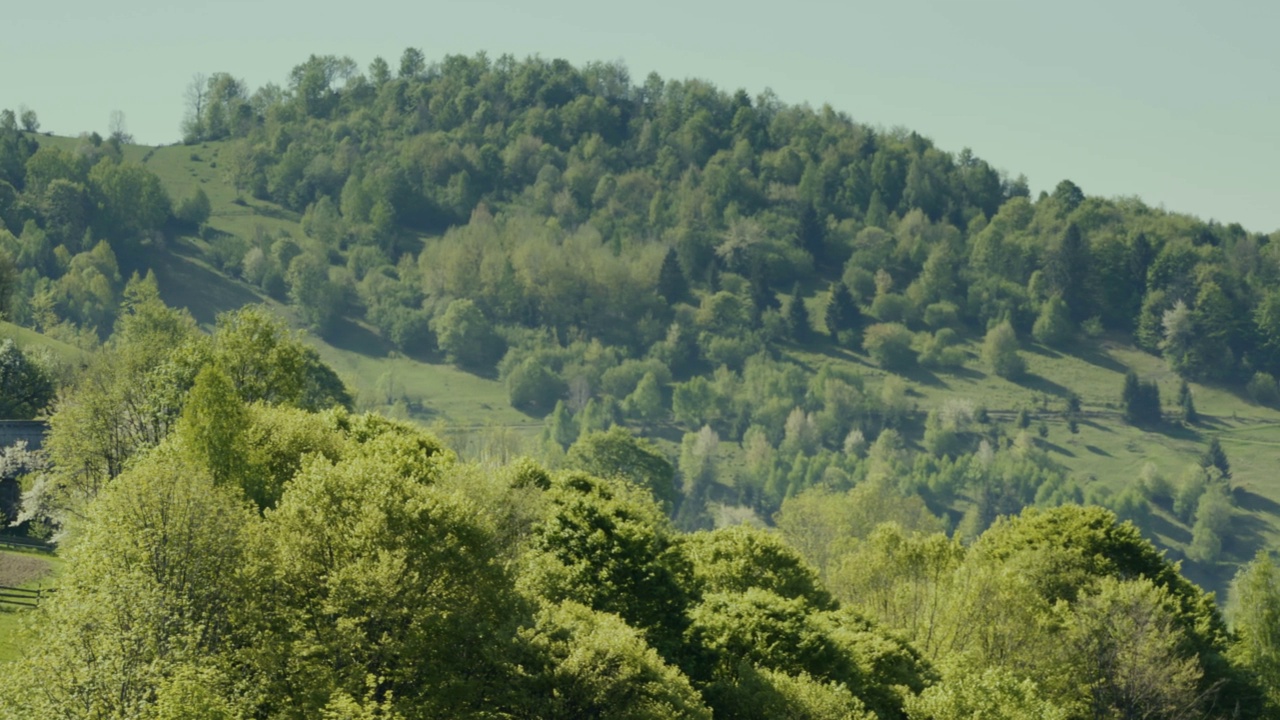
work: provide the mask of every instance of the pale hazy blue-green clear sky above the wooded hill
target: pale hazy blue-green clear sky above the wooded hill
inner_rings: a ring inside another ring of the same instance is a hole
[[[0,108],[41,129],[175,142],[195,73],[285,83],[311,54],[404,47],[704,78],[970,147],[1033,191],[1280,229],[1275,0],[51,0],[6,3]],[[183,5],[189,5],[183,8]]]

